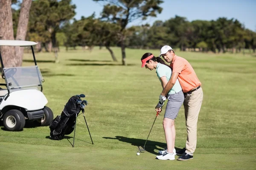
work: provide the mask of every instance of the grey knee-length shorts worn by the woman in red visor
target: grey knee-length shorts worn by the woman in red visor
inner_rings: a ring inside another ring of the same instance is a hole
[[[175,94],[169,94],[167,99],[168,102],[166,105],[166,112],[164,113],[164,117],[174,120],[178,116],[180,107],[184,102],[183,91],[179,91]]]

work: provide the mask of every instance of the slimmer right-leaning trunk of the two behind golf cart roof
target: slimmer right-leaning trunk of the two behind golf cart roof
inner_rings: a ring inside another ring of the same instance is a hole
[[[29,10],[31,6],[32,0],[23,0],[20,7],[20,16],[17,27],[17,35],[16,40],[25,40],[26,32],[29,23]],[[23,59],[24,47],[15,47],[15,60],[16,66],[21,66]]]

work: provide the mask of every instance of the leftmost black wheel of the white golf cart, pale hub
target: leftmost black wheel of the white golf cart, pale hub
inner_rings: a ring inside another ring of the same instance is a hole
[[[3,115],[3,126],[9,131],[20,131],[25,126],[25,117],[21,111],[9,110]]]

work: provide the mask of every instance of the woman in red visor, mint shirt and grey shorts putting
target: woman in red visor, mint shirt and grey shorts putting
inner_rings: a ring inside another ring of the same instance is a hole
[[[148,68],[149,70],[156,69],[157,77],[159,78],[162,87],[164,88],[172,75],[172,69],[169,65],[160,58],[154,57],[151,53],[145,53],[141,57],[142,66]],[[169,91],[167,95],[167,105],[166,111],[163,119],[163,129],[166,137],[167,149],[160,151],[162,155],[157,156],[157,159],[161,160],[175,160],[176,150],[175,150],[175,126],[174,120],[178,115],[181,105],[184,101],[184,94],[182,88],[177,79],[173,88]]]

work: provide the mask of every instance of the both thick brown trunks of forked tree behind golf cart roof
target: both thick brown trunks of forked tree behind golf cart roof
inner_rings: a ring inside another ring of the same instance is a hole
[[[25,40],[29,22],[29,10],[32,0],[23,0],[20,7],[20,15],[17,24],[16,40]],[[12,0],[0,1],[0,39],[14,40],[12,22]],[[0,47],[5,67],[21,66],[23,58],[22,47]],[[6,57],[8,56],[8,57]]]

